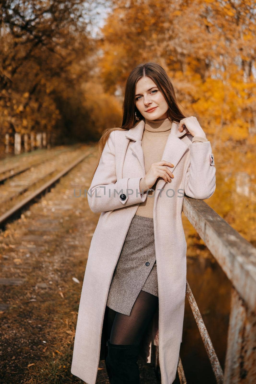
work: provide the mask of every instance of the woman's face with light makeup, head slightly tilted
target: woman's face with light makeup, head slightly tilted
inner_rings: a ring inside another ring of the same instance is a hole
[[[148,120],[166,119],[168,104],[157,85],[148,76],[144,76],[136,84],[135,106]],[[148,111],[155,108],[152,111]]]

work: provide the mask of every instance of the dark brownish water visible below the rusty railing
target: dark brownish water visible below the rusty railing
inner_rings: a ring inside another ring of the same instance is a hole
[[[224,372],[231,283],[211,255],[187,256],[187,281]],[[216,383],[187,296],[180,357],[188,383]]]

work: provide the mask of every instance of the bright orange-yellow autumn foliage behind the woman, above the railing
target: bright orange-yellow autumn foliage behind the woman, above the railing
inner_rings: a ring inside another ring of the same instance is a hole
[[[183,113],[197,117],[212,144],[217,188],[209,202],[249,241],[256,233],[254,11],[251,0],[113,0],[99,40],[100,76],[112,93],[142,61],[165,68]]]

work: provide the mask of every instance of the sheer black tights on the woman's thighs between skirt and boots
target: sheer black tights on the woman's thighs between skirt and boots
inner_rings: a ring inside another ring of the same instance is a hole
[[[106,307],[107,339],[111,344],[140,344],[157,307],[158,297],[145,291],[140,291],[130,316]]]

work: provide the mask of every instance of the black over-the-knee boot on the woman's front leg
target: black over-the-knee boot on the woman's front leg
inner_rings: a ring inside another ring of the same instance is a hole
[[[107,346],[106,366],[111,370],[111,384],[139,384],[139,345],[111,344],[108,340]]]

